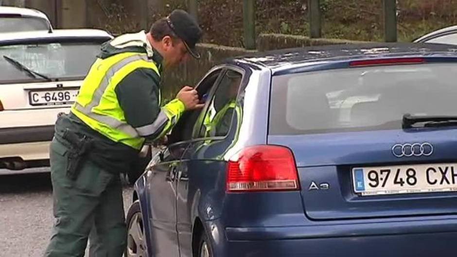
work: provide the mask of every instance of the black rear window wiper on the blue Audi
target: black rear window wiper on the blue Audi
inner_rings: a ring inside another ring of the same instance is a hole
[[[416,123],[424,123],[422,127],[456,126],[457,116],[420,116],[409,113],[403,115],[402,128],[413,128]]]

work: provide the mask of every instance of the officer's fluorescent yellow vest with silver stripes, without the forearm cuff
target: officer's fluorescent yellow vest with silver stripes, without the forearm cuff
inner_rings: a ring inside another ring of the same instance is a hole
[[[125,121],[114,90],[125,76],[138,68],[153,69],[159,74],[157,66],[146,54],[127,52],[103,60],[97,59],[71,108],[72,113],[92,129],[113,141],[122,142],[135,149],[141,148],[144,141],[141,137],[143,133]]]

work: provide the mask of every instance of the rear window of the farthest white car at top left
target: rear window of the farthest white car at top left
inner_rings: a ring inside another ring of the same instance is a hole
[[[0,32],[49,30],[47,20],[35,17],[1,17]]]

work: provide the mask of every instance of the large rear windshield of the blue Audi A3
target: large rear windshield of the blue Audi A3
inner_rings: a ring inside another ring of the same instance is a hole
[[[457,65],[333,69],[274,76],[269,133],[400,129],[404,114],[457,115]]]

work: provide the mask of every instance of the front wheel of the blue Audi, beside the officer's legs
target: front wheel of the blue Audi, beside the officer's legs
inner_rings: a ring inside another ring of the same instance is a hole
[[[127,249],[125,257],[147,257],[146,240],[144,238],[143,217],[140,201],[135,201],[127,212]]]

